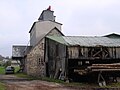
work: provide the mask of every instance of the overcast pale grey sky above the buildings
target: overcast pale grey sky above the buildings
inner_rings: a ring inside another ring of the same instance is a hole
[[[51,5],[65,35],[120,34],[120,0],[0,0],[0,54],[12,45],[27,45],[29,30]]]

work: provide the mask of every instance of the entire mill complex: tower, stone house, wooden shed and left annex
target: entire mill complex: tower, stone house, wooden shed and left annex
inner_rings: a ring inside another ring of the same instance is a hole
[[[13,59],[23,62],[24,72],[76,79],[101,70],[109,75],[120,71],[120,35],[64,36],[62,24],[55,21],[53,13],[49,7],[33,23],[29,31],[30,46],[13,46]]]

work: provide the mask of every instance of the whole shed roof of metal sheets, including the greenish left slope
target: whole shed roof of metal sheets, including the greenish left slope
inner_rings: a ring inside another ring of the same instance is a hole
[[[109,37],[90,37],[90,36],[48,36],[48,38],[68,45],[68,46],[106,46],[106,47],[120,47],[120,38],[109,38]]]

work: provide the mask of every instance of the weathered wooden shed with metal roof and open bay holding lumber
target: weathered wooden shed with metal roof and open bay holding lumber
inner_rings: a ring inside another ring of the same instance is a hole
[[[120,35],[103,37],[47,36],[48,76],[74,78],[74,74],[120,71]],[[59,70],[61,73],[58,73]],[[111,74],[113,75],[113,74]],[[115,76],[115,74],[113,75]]]

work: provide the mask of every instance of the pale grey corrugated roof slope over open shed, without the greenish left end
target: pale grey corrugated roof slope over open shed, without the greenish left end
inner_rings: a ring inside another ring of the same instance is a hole
[[[81,36],[70,36],[63,37],[69,45],[80,45],[80,46],[108,46],[116,47],[120,46],[120,39],[113,39],[108,37],[81,37]]]

